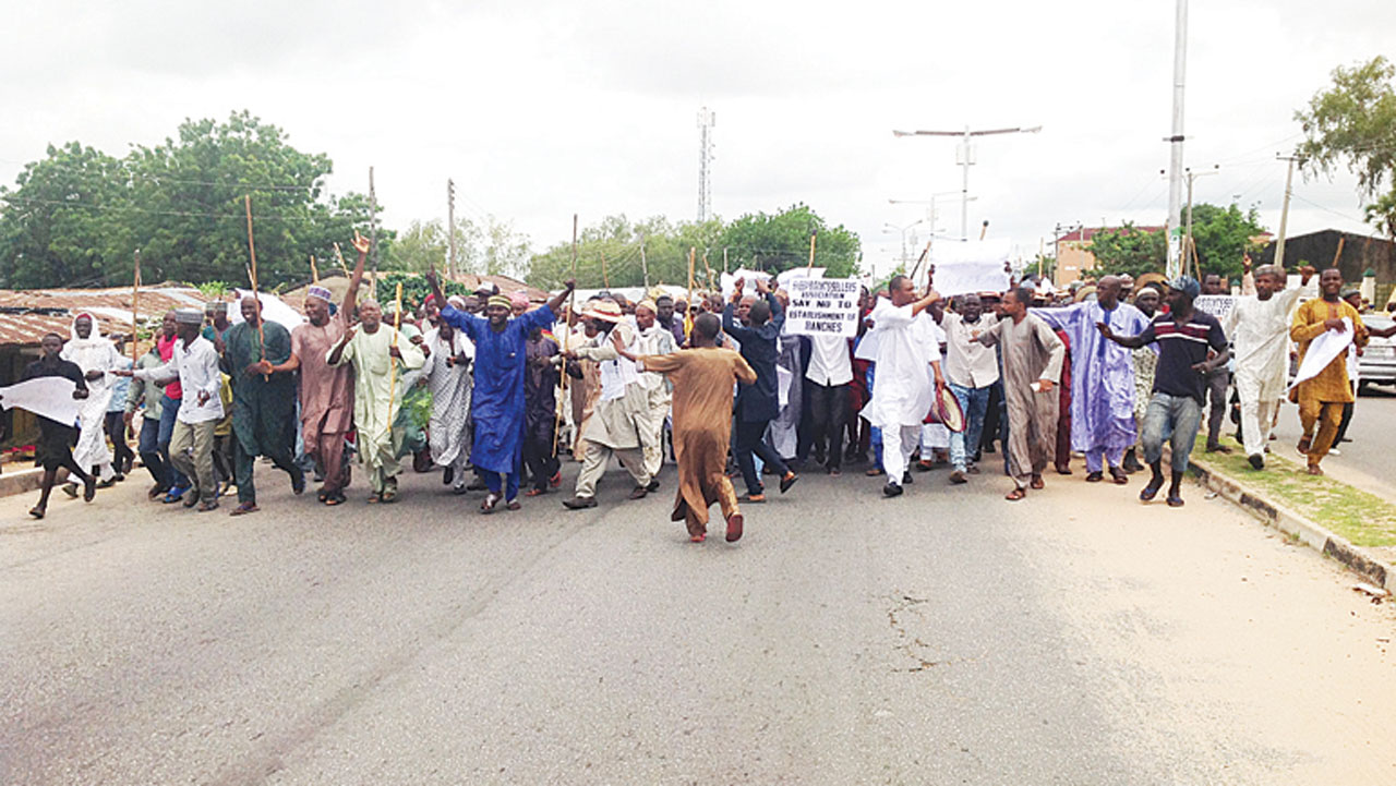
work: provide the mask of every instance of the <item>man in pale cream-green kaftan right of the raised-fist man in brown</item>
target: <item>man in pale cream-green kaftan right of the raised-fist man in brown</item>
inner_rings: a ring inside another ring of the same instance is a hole
[[[359,461],[369,473],[370,503],[398,501],[399,448],[405,429],[394,429],[402,408],[402,370],[420,369],[426,356],[398,328],[383,322],[376,300],[359,306],[359,324],[345,331],[325,357],[328,366],[353,366],[353,419]],[[401,369],[399,369],[401,367]]]

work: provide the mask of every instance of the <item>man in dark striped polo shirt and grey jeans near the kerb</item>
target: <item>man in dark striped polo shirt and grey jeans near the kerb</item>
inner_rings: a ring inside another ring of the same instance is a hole
[[[1148,503],[1163,489],[1163,440],[1171,434],[1168,507],[1174,508],[1182,507],[1182,476],[1198,440],[1206,374],[1226,364],[1230,356],[1222,322],[1192,307],[1199,290],[1195,278],[1184,275],[1174,279],[1168,285],[1168,313],[1154,317],[1139,335],[1120,336],[1104,322],[1096,325],[1100,335],[1121,346],[1135,349],[1159,343],[1159,370],[1143,420],[1143,459],[1153,477],[1139,491],[1139,498]],[[1216,352],[1210,360],[1209,352]]]

